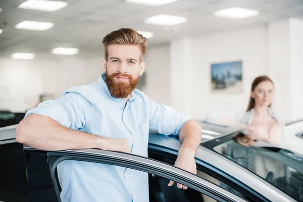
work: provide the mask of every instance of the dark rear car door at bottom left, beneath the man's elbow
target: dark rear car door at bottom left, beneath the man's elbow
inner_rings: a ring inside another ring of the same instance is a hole
[[[0,201],[57,201],[46,152],[24,150],[13,132],[0,133]]]

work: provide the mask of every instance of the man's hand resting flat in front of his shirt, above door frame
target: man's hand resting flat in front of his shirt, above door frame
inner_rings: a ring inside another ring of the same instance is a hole
[[[108,151],[122,151],[124,153],[131,153],[128,141],[123,138],[103,138],[100,141],[99,149]]]

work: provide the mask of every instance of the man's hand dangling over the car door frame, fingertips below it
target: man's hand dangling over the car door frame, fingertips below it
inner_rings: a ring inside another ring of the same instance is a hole
[[[190,173],[197,174],[197,168],[194,161],[195,151],[189,148],[180,148],[178,158],[175,162],[175,166],[186,170]],[[172,186],[175,182],[170,181],[168,186]],[[177,183],[179,189],[187,189],[187,186]]]

